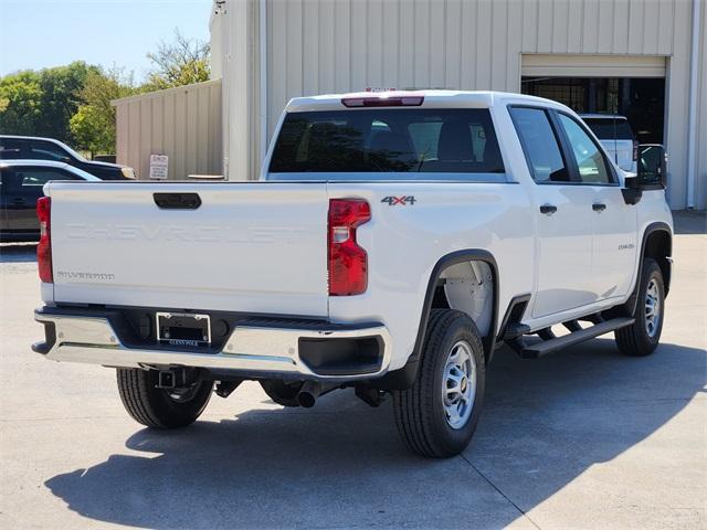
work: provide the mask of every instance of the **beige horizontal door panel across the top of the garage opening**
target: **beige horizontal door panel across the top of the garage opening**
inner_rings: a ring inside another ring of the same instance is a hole
[[[662,55],[523,54],[528,77],[665,77]]]

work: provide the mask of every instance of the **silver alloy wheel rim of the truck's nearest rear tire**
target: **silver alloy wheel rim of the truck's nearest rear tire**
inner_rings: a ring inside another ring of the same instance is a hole
[[[451,349],[444,365],[442,403],[446,423],[462,428],[468,422],[476,398],[476,360],[472,347],[460,340]]]

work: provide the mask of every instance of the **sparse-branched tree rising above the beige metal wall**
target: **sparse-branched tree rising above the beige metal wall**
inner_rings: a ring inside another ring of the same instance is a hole
[[[161,42],[157,52],[148,53],[152,63],[144,91],[161,91],[173,86],[209,81],[209,44],[188,39],[175,30],[175,42]]]

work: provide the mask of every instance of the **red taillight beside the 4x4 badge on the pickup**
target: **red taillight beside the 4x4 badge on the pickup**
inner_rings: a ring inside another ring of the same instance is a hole
[[[368,254],[356,242],[356,229],[370,221],[361,199],[329,201],[329,296],[360,295],[368,287]]]

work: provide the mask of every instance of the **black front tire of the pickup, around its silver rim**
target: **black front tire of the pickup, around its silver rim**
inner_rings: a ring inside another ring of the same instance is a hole
[[[661,341],[663,331],[663,317],[665,316],[665,284],[663,273],[657,262],[651,257],[643,261],[641,279],[639,284],[639,300],[633,325],[614,331],[616,346],[622,353],[632,357],[645,357],[653,353]],[[653,283],[657,288],[658,311],[654,319],[654,328],[650,328],[647,314],[648,286]],[[652,329],[652,331],[650,331]]]

